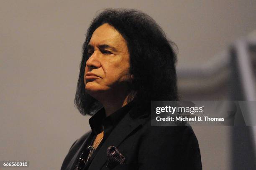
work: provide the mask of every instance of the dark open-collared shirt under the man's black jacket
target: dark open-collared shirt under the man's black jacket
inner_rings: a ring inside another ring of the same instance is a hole
[[[108,116],[108,117],[106,117],[105,109],[103,107],[89,119],[89,124],[92,129],[92,133],[91,133],[89,139],[87,140],[85,147],[83,148],[83,150],[84,150],[83,157],[85,157],[85,159],[89,155],[89,152],[86,151],[86,149],[89,145],[92,146],[93,141],[95,140],[97,134],[99,134],[100,132],[102,132],[104,130],[103,139],[100,142],[100,144],[98,145],[98,147],[96,148],[96,150],[94,150],[94,152],[90,156],[90,159],[93,159],[93,157],[97,154],[97,152],[100,149],[100,147],[102,146],[102,144],[108,138],[109,134],[112,132],[112,130],[118,124],[118,122],[120,122],[120,120],[125,116],[125,114],[127,114],[131,110],[132,107],[133,107],[133,101],[131,101],[130,103],[121,107],[114,113],[110,114],[110,116]],[[91,162],[90,159],[87,162],[88,164],[90,164],[90,162]],[[89,167],[89,166],[87,166],[87,167]]]

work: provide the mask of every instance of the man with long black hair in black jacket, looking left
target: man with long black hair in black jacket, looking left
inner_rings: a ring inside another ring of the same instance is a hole
[[[87,30],[75,104],[93,115],[61,170],[200,170],[189,126],[151,126],[151,100],[178,100],[173,43],[138,10],[108,9]]]

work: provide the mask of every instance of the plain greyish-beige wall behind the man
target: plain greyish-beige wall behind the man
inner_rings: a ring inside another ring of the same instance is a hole
[[[179,47],[178,67],[203,64],[256,28],[255,0],[0,0],[0,161],[60,169],[90,129],[73,102],[84,34],[103,8],[154,18]],[[194,130],[204,169],[229,169],[229,128]]]

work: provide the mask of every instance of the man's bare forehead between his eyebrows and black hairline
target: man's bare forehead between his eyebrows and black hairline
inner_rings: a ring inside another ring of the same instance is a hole
[[[89,44],[92,46],[100,44],[114,45],[115,43],[120,43],[120,41],[125,42],[123,36],[121,36],[121,34],[111,25],[105,23],[93,32]]]

